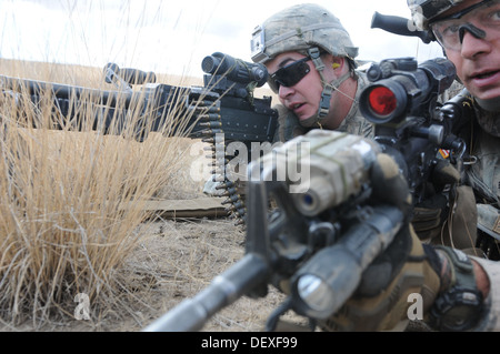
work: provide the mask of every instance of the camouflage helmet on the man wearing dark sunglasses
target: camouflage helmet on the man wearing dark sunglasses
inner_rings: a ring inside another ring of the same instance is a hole
[[[354,59],[358,48],[340,20],[324,8],[307,3],[284,9],[256,28],[251,49],[254,62],[266,63],[280,53],[319,47],[332,55]]]

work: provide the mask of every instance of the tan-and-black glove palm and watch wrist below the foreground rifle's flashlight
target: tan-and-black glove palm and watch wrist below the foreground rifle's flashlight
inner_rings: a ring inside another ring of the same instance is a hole
[[[404,239],[403,234],[398,237]],[[320,323],[322,330],[403,331],[409,320],[433,331],[471,331],[478,326],[486,315],[488,290],[478,287],[471,260],[451,247],[422,246],[414,233],[411,240],[411,252],[402,267],[397,271],[398,257],[390,255],[397,247],[388,250],[364,272],[364,283],[356,295]],[[393,275],[387,284],[373,279],[387,269]]]

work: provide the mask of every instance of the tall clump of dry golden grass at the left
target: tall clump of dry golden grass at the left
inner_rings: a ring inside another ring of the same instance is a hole
[[[33,68],[16,65],[13,71]],[[62,81],[50,75],[61,70],[43,72],[43,80]],[[99,75],[68,77],[80,84],[84,79],[74,78]],[[41,109],[19,102],[3,95],[0,107],[0,320],[38,328],[72,317],[79,294],[92,303],[91,318],[117,313],[127,292],[120,269],[150,216],[143,205],[182,162],[177,138],[151,133],[140,143],[71,127],[53,131],[50,100]],[[84,110],[91,125],[96,112]],[[174,121],[182,135],[186,118]]]

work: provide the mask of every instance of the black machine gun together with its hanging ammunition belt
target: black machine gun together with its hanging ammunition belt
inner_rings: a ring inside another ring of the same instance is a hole
[[[37,118],[20,124],[56,130],[87,131],[119,134],[144,141],[150,132],[164,135],[188,133],[189,138],[210,143],[216,166],[213,174],[221,176],[220,189],[226,189],[224,204],[233,216],[242,219],[244,208],[226,174],[229,160],[226,144],[231,141],[251,146],[252,142],[272,142],[277,129],[277,112],[271,98],[256,98],[256,88],[262,87],[268,71],[253,64],[216,52],[202,61],[203,87],[173,87],[157,83],[156,74],[136,69],[104,67],[106,82],[113,90],[96,90],[0,75],[0,89],[14,95],[18,115],[24,114],[26,101],[36,111],[49,109],[50,125]],[[134,90],[136,88],[136,90]],[[22,103],[23,102],[23,103]]]

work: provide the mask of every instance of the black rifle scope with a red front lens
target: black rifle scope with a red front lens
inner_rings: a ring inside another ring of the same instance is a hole
[[[360,111],[373,124],[397,124],[408,115],[428,117],[427,103],[449,89],[456,74],[453,63],[442,58],[420,65],[413,58],[372,64],[367,72],[372,83],[361,93]]]

